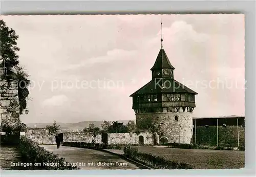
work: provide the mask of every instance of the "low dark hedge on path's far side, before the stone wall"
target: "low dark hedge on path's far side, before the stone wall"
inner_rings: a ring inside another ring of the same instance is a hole
[[[130,144],[131,146],[152,146],[152,145],[139,145]],[[94,149],[123,149],[127,144],[103,144],[103,143],[85,143],[85,142],[63,142],[62,146],[81,147],[81,148],[94,148]]]

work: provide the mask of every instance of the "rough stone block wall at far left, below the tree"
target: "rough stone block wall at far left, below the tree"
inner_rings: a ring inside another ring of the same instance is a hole
[[[0,116],[1,122],[19,120],[18,84],[15,80],[0,80]]]

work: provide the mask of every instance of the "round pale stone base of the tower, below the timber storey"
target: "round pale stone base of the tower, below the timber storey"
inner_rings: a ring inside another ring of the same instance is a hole
[[[175,120],[175,117],[178,120]],[[193,118],[191,113],[144,113],[136,114],[138,127],[154,126],[160,144],[163,139],[168,143],[190,144],[193,136]]]

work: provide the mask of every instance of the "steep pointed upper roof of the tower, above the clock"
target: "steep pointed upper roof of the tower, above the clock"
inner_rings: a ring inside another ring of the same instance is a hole
[[[164,51],[164,49],[160,49],[157,59],[155,61],[154,66],[151,68],[152,70],[158,70],[158,69],[163,69],[163,68],[171,68],[175,70],[172,64],[170,64],[170,61]]]

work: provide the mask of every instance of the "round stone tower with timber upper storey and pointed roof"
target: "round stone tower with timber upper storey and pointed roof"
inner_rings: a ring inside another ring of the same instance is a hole
[[[140,130],[157,132],[160,144],[190,144],[193,135],[191,114],[196,107],[197,93],[176,81],[174,70],[161,45],[151,68],[152,80],[130,96],[133,97],[136,125]]]

